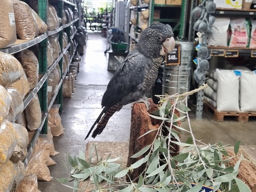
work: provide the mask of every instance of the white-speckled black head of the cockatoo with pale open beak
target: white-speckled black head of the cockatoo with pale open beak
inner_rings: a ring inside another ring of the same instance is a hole
[[[170,25],[152,23],[143,30],[138,42],[139,51],[146,57],[156,58],[174,49],[175,41]]]

